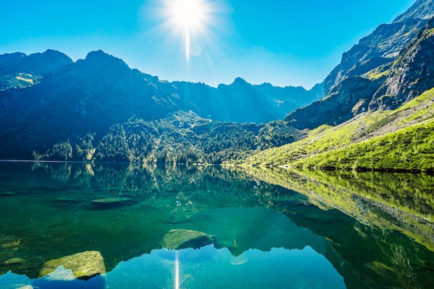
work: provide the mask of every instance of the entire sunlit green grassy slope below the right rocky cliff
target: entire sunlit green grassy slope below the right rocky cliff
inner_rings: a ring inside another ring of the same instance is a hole
[[[434,89],[397,110],[359,114],[336,127],[252,155],[249,165],[354,170],[434,170]]]

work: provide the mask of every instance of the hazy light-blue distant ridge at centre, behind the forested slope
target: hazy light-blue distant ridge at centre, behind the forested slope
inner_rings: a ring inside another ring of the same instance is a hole
[[[236,78],[231,85],[209,87],[191,82],[173,82],[187,110],[198,115],[236,123],[268,123],[283,119],[288,112],[320,99],[322,85],[303,87],[251,85]]]

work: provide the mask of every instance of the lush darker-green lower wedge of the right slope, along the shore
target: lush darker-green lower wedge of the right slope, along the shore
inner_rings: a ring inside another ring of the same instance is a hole
[[[295,161],[295,167],[434,171],[434,121]]]

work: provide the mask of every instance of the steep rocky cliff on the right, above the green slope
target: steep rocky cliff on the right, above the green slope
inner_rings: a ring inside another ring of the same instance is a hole
[[[339,125],[367,110],[395,109],[434,87],[430,4],[433,0],[417,1],[344,53],[324,80],[322,100],[291,112],[285,121],[300,130]]]

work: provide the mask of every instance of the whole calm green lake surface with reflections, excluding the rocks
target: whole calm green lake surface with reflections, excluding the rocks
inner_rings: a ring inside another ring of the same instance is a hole
[[[433,191],[424,174],[0,162],[0,289],[434,288]],[[165,249],[172,229],[216,243]],[[88,251],[105,274],[39,277]]]

